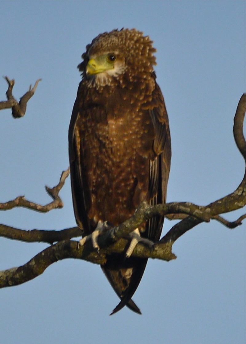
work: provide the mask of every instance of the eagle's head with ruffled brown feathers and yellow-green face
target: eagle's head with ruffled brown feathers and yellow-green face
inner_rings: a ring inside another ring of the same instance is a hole
[[[149,36],[136,29],[104,32],[86,46],[78,65],[88,86],[100,87],[149,79],[156,64]]]

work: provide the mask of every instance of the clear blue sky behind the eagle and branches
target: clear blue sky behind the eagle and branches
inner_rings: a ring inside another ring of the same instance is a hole
[[[167,200],[206,205],[234,191],[244,162],[232,134],[245,92],[244,1],[1,1],[0,75],[20,98],[42,78],[24,118],[0,116],[0,202],[18,195],[46,204],[44,185],[68,167],[68,126],[85,45],[104,31],[136,28],[157,48],[157,82],[172,138]],[[0,98],[7,84],[0,79]],[[48,214],[1,212],[23,229],[75,225],[70,181],[64,208]],[[231,221],[243,210],[226,214]],[[165,221],[163,233],[174,222]],[[0,269],[19,266],[45,244],[0,238]],[[18,287],[0,291],[0,342],[245,343],[245,222],[229,230],[211,221],[173,246],[177,259],[149,260],[134,301],[109,316],[118,298],[99,266],[67,259]]]

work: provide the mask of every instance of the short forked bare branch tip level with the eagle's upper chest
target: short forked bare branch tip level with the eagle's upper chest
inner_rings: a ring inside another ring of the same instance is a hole
[[[30,85],[28,92],[26,92],[20,98],[19,103],[12,95],[12,90],[14,87],[14,79],[10,80],[7,76],[5,76],[4,79],[7,81],[9,85],[6,92],[6,96],[8,100],[0,101],[0,110],[12,108],[12,116],[14,118],[23,117],[25,115],[25,111],[27,110],[27,102],[34,95],[35,90],[38,86],[38,83],[40,82],[41,79],[38,79],[35,82],[35,85],[33,86],[33,88],[32,88],[32,85]]]

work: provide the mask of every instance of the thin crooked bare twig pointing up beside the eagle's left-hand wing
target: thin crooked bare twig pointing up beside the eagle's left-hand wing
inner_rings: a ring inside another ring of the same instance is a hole
[[[58,193],[64,185],[65,179],[69,176],[69,173],[70,168],[68,168],[66,171],[63,171],[59,183],[52,189],[48,186],[45,186],[46,191],[53,198],[53,201],[51,203],[48,203],[46,205],[40,205],[26,200],[24,196],[18,196],[12,201],[0,203],[0,210],[9,210],[15,207],[24,207],[41,213],[47,213],[52,209],[62,208],[63,202]]]

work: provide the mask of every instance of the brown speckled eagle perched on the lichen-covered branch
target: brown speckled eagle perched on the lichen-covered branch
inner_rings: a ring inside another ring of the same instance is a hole
[[[104,32],[86,46],[69,126],[73,208],[85,236],[106,224],[117,226],[143,201],[166,202],[171,161],[168,117],[148,36],[135,29]],[[160,239],[164,218],[155,216],[132,233],[125,255],[111,255],[102,267],[121,299],[113,313],[132,301],[147,259],[131,257],[137,241]]]

